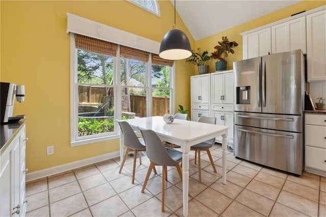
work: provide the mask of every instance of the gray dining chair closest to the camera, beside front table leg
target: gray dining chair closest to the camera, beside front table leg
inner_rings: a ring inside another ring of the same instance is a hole
[[[150,159],[151,163],[149,165],[147,175],[142,188],[142,193],[145,191],[145,187],[149,176],[151,174],[154,166],[162,166],[162,212],[164,212],[165,204],[165,180],[168,181],[168,166],[175,166],[177,168],[178,174],[182,181],[182,172],[179,163],[182,160],[182,152],[165,147],[158,135],[150,129],[139,128],[146,144],[147,157]]]

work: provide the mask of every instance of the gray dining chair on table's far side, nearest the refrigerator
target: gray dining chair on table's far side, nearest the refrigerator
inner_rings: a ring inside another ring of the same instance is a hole
[[[203,123],[209,123],[209,124],[216,124],[216,118],[215,117],[205,117],[202,116],[198,119],[198,122],[203,122]],[[209,157],[210,163],[213,167],[214,173],[216,173],[216,168],[212,159],[212,155],[210,154],[209,148],[211,148],[215,144],[215,138],[207,140],[205,142],[193,145],[190,147],[191,150],[195,151],[195,164],[196,164],[196,159],[197,159],[197,154],[198,154],[198,177],[199,177],[199,182],[202,182],[202,173],[201,173],[201,160],[200,160],[200,151],[206,151],[207,155]]]

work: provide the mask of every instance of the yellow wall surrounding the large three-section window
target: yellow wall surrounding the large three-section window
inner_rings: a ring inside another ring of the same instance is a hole
[[[25,114],[26,167],[30,172],[119,150],[119,140],[70,146],[70,35],[66,13],[113,26],[157,42],[172,29],[174,7],[159,2],[155,16],[127,1],[0,1],[1,81],[25,85],[25,101],[14,115]],[[137,15],[137,16],[135,16]],[[178,29],[195,42],[177,16]],[[190,108],[193,68],[176,63],[176,105]],[[55,154],[46,155],[53,145]]]

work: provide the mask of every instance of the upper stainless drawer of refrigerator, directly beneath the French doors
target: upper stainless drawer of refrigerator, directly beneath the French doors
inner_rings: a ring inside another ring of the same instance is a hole
[[[303,116],[235,112],[234,124],[291,132],[303,131]]]

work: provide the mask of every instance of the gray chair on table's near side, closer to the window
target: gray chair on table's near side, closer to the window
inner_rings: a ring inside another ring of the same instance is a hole
[[[123,143],[127,147],[126,153],[124,154],[119,173],[121,173],[124,163],[127,159],[129,152],[133,153],[133,167],[132,167],[132,180],[131,183],[134,183],[134,174],[137,161],[137,153],[139,152],[139,163],[142,164],[142,151],[146,151],[146,146],[143,138],[137,137],[136,133],[130,126],[130,124],[123,120],[116,120],[119,123],[120,129],[123,134]],[[155,168],[153,168],[154,173],[156,174]]]

